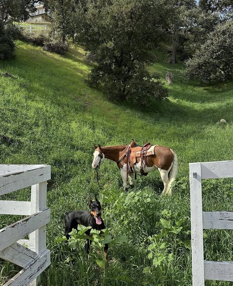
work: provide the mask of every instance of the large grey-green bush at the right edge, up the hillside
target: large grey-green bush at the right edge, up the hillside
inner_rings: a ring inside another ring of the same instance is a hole
[[[187,76],[200,83],[223,82],[233,74],[233,21],[216,26],[194,57],[187,60]]]

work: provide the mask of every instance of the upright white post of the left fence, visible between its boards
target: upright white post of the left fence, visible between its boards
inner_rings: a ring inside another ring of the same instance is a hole
[[[41,211],[47,206],[47,181],[33,185],[31,189],[31,214]],[[30,234],[31,250],[41,254],[46,250],[46,226],[43,226]],[[37,277],[31,286],[38,285],[40,278]]]

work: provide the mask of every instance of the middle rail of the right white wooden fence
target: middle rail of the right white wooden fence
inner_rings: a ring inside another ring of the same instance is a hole
[[[203,212],[203,229],[233,229],[233,212]]]

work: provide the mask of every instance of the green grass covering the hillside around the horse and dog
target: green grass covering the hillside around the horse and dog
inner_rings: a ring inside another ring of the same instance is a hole
[[[88,87],[85,76],[90,66],[80,47],[71,46],[67,56],[58,56],[17,42],[16,58],[0,62],[0,72],[15,77],[0,76],[0,134],[13,140],[0,143],[1,164],[52,166],[48,185],[52,219],[47,227],[52,264],[42,275],[44,286],[191,285],[191,256],[183,244],[190,239],[188,163],[232,159],[233,82],[198,86],[185,79],[182,64],[170,65],[163,53],[157,54],[158,62],[150,71],[157,71],[162,78],[166,70],[171,71],[174,84],[168,87],[169,100],[155,102],[145,110],[109,102],[101,90]],[[218,124],[221,118],[228,121],[226,128]],[[132,138],[140,144],[163,144],[177,153],[179,175],[171,197],[160,196],[159,172],[138,177],[134,191],[123,193],[119,170],[110,161],[100,167],[99,191],[91,168],[93,146],[128,144]],[[231,182],[205,181],[203,209],[233,210]],[[111,234],[129,237],[128,243],[109,250],[105,273],[95,264],[90,266],[91,258],[81,246],[79,251],[71,251],[67,245],[54,243],[63,235],[65,214],[87,209],[88,194],[95,191]],[[9,197],[29,199],[30,191],[17,191]],[[155,267],[147,257],[148,237],[163,229],[160,219],[164,209],[171,212],[166,218],[171,223],[183,219],[183,229],[160,236],[159,245],[167,243],[161,255],[173,253],[174,259]],[[16,220],[17,216],[1,216],[0,227]],[[204,240],[207,259],[233,260],[232,231],[206,231]],[[0,283],[19,270],[2,260],[0,266]],[[146,266],[151,273],[142,272]]]

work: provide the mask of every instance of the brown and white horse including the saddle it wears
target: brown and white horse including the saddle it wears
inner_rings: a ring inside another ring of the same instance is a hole
[[[163,194],[171,194],[171,184],[178,172],[178,161],[175,152],[165,146],[146,143],[138,146],[133,141],[130,145],[95,146],[92,168],[96,169],[104,159],[117,163],[121,171],[125,191],[128,191],[128,178],[133,188],[133,173],[142,175],[159,170],[164,182]]]

